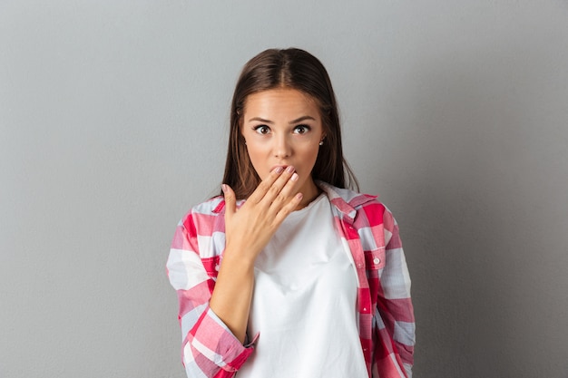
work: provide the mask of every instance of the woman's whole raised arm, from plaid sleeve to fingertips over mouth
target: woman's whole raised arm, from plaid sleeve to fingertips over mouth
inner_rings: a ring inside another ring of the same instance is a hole
[[[232,189],[225,192],[226,247],[216,281],[203,266],[191,214],[178,227],[168,259],[171,285],[178,291],[183,334],[183,363],[188,376],[230,377],[252,349],[246,337],[254,284],[254,260],[281,222],[299,205],[293,188],[298,175],[273,171],[247,202],[236,208]],[[210,227],[211,228],[211,227]],[[217,230],[220,231],[220,230]],[[211,258],[211,257],[208,257]]]

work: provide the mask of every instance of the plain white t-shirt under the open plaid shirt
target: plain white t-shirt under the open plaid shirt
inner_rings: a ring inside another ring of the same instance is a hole
[[[248,333],[260,333],[239,378],[367,378],[357,330],[357,276],[328,197],[292,212],[255,263]]]

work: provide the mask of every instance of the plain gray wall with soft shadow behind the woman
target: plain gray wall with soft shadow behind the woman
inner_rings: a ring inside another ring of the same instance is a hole
[[[568,377],[566,1],[0,2],[0,376],[182,377],[164,263],[240,67],[328,67],[401,225],[416,378]]]

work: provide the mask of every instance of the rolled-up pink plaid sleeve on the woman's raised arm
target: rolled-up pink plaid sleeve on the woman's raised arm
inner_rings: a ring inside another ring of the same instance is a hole
[[[215,280],[201,260],[192,214],[176,228],[166,267],[178,294],[181,357],[188,377],[234,376],[253,347],[240,344],[209,306]]]

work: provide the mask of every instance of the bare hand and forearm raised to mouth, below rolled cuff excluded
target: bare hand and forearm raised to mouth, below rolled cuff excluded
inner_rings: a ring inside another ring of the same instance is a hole
[[[249,321],[254,260],[282,221],[298,207],[302,194],[294,195],[297,180],[293,167],[271,171],[240,209],[234,191],[227,185],[222,187],[226,245],[210,307],[241,343]]]

